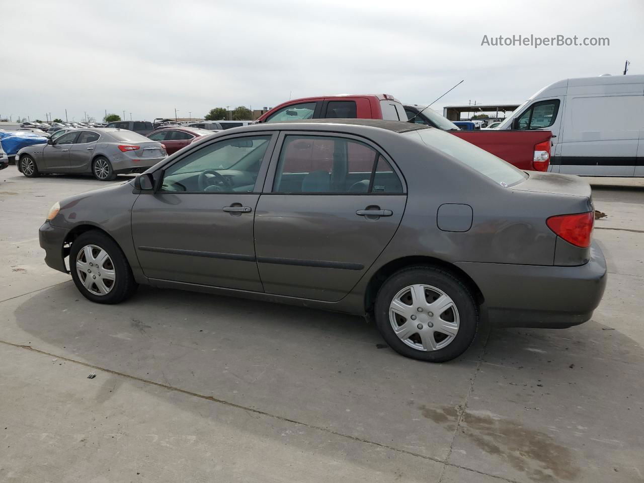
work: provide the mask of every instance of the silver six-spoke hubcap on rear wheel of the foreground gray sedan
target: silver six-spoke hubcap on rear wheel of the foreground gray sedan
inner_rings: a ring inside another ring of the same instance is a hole
[[[459,310],[448,294],[431,285],[410,285],[389,306],[393,332],[417,350],[439,350],[459,332]]]

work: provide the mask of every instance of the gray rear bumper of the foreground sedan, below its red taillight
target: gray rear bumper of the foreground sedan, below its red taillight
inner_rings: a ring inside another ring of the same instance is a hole
[[[606,287],[606,260],[595,242],[585,265],[557,267],[459,262],[477,283],[489,319],[505,327],[565,328],[588,321]]]

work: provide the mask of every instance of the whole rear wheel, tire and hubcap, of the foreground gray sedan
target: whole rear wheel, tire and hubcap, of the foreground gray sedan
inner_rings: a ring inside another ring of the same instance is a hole
[[[478,307],[464,283],[436,267],[410,267],[388,278],[375,301],[375,321],[399,354],[445,362],[471,345]]]

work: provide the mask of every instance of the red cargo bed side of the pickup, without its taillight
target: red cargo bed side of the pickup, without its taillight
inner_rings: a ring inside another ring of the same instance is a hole
[[[531,171],[535,145],[549,141],[551,131],[449,131],[451,134],[485,149],[518,169]],[[551,153],[552,156],[552,153]]]

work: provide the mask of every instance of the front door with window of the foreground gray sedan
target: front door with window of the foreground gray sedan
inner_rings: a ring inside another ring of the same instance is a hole
[[[226,137],[165,167],[160,189],[132,210],[147,277],[262,291],[253,217],[272,144],[272,133]]]

